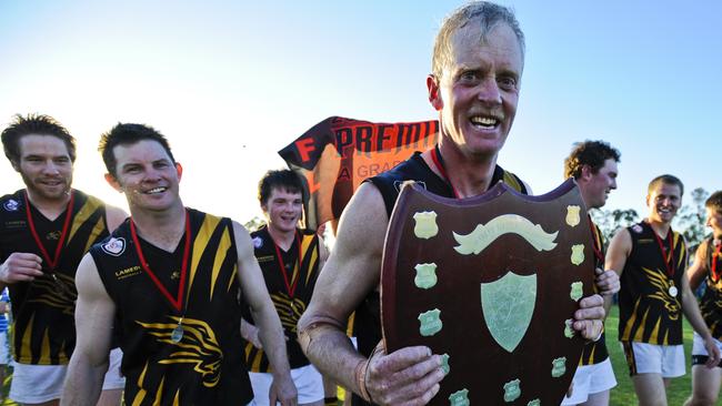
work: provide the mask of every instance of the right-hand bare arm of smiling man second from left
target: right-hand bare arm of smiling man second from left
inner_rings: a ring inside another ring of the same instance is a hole
[[[273,371],[273,384],[269,394],[270,404],[294,406],[297,389],[291,379],[291,367],[285,353],[285,337],[281,321],[265,287],[263,274],[253,255],[251,237],[245,229],[233,222],[233,235],[238,250],[238,277],[253,321],[259,328],[259,338]],[[239,344],[240,345],[240,344]]]

